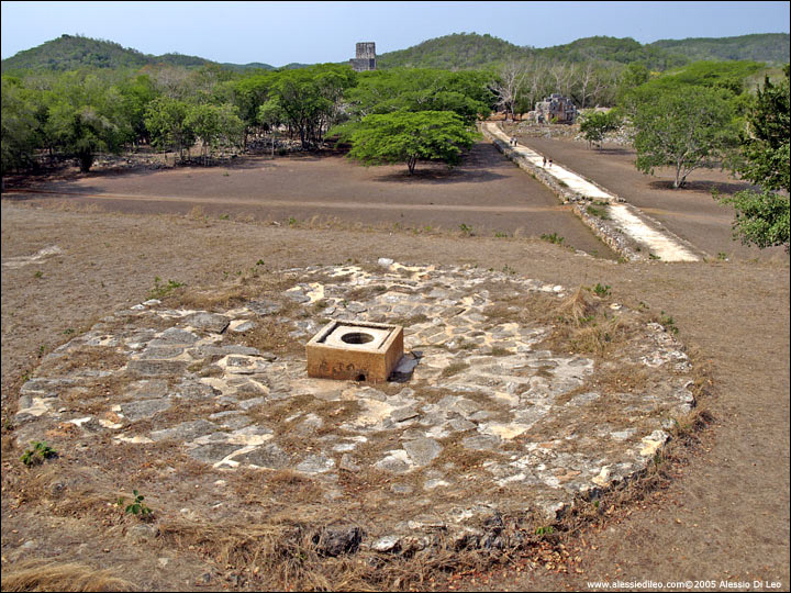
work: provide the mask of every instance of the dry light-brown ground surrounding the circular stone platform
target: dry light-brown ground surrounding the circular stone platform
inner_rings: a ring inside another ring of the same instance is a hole
[[[760,579],[780,581],[782,590],[789,586],[788,259],[615,264],[524,239],[319,232],[168,215],[59,212],[3,200],[3,261],[53,245],[63,253],[2,269],[3,418],[14,410],[21,376],[34,368],[41,351],[107,312],[144,300],[155,277],[213,286],[257,260],[267,269],[282,269],[392,257],[508,266],[570,287],[609,284],[622,302],[642,301],[672,315],[679,337],[711,361],[712,395],[701,405],[716,423],[689,465],[678,468],[668,490],[628,515],[613,516],[600,533],[583,534],[584,547],[579,540],[570,544],[581,558],[576,564],[581,573],[538,569],[525,575],[514,570],[493,582],[466,581],[465,586],[586,590],[588,581],[605,578]],[[3,448],[3,572],[20,558],[75,560],[113,568],[146,590],[188,590],[205,571],[198,550],[174,556],[143,545],[130,552],[129,540],[103,526],[101,517],[70,521],[53,517],[45,506],[20,503],[19,489],[26,488],[20,480],[26,474],[10,455],[18,452]],[[160,566],[165,557],[166,569]],[[224,584],[212,581],[205,588]]]

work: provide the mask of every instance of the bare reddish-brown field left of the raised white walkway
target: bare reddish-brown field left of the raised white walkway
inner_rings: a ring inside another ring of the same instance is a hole
[[[8,189],[13,189],[8,186]],[[134,174],[93,172],[36,183],[42,194],[15,194],[36,203],[68,200],[102,209],[276,220],[313,216],[345,223],[475,234],[534,236],[557,233],[565,244],[600,257],[616,257],[568,206],[508,161],[489,143],[478,143],[453,170],[420,164],[366,168],[341,155],[294,155],[270,160],[247,157],[230,168],[179,168]]]

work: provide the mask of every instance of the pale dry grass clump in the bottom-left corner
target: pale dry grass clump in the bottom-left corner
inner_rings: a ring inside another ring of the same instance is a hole
[[[140,591],[112,570],[77,563],[29,561],[3,567],[3,591]]]

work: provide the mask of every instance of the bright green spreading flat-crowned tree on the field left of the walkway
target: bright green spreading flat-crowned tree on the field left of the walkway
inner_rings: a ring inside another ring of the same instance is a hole
[[[405,163],[413,175],[420,159],[457,164],[474,137],[461,118],[449,111],[368,115],[352,134],[348,156],[366,165]]]

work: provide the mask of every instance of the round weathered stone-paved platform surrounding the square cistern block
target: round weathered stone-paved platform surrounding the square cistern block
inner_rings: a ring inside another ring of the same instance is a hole
[[[687,355],[643,312],[586,292],[595,306],[573,317],[564,287],[383,262],[287,270],[286,290],[233,309],[110,315],[22,387],[18,441],[68,426],[83,444],[175,444],[213,479],[254,471],[261,508],[335,506],[392,551],[437,530],[490,545],[492,517],[549,523],[642,472],[694,404]],[[402,382],[308,378],[304,344],[330,320],[403,325]],[[278,490],[286,474],[310,495]]]

